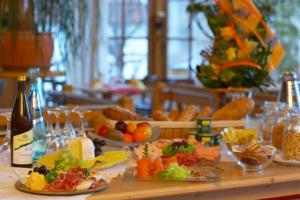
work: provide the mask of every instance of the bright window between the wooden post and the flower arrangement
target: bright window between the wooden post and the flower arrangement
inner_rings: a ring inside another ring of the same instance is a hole
[[[186,11],[194,0],[168,0],[167,78],[187,79],[193,76],[189,68],[201,64],[201,49],[210,40],[200,31],[192,16]],[[203,18],[203,15],[197,16]],[[207,26],[207,24],[203,24]]]

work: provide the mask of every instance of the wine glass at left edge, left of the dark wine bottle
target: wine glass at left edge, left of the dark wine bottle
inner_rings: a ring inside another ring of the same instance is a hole
[[[11,112],[2,112],[0,113],[0,116],[3,116],[6,118],[6,135],[3,140],[2,145],[0,145],[0,153],[3,153],[4,155],[1,156],[1,159],[3,161],[8,161],[10,156],[10,121],[11,121]]]

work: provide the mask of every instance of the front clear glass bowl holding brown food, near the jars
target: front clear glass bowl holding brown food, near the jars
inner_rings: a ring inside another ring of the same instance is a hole
[[[271,145],[259,145],[257,143],[248,146],[234,145],[231,148],[233,160],[242,167],[244,171],[248,172],[264,170],[272,163],[275,153],[275,147]]]

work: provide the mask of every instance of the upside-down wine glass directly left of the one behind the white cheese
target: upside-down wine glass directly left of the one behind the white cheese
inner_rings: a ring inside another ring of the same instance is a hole
[[[70,140],[76,138],[76,132],[72,126],[71,122],[71,113],[76,109],[75,106],[60,106],[62,112],[65,114],[65,126],[61,130],[62,135],[65,137],[66,142],[68,143]]]

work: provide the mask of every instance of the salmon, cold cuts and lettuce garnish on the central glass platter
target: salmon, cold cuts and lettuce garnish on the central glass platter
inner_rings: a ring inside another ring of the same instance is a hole
[[[142,180],[212,181],[218,179],[220,172],[213,165],[211,168],[196,166],[201,159],[215,163],[220,158],[220,147],[203,147],[179,139],[161,139],[136,147],[134,154],[136,177]]]

